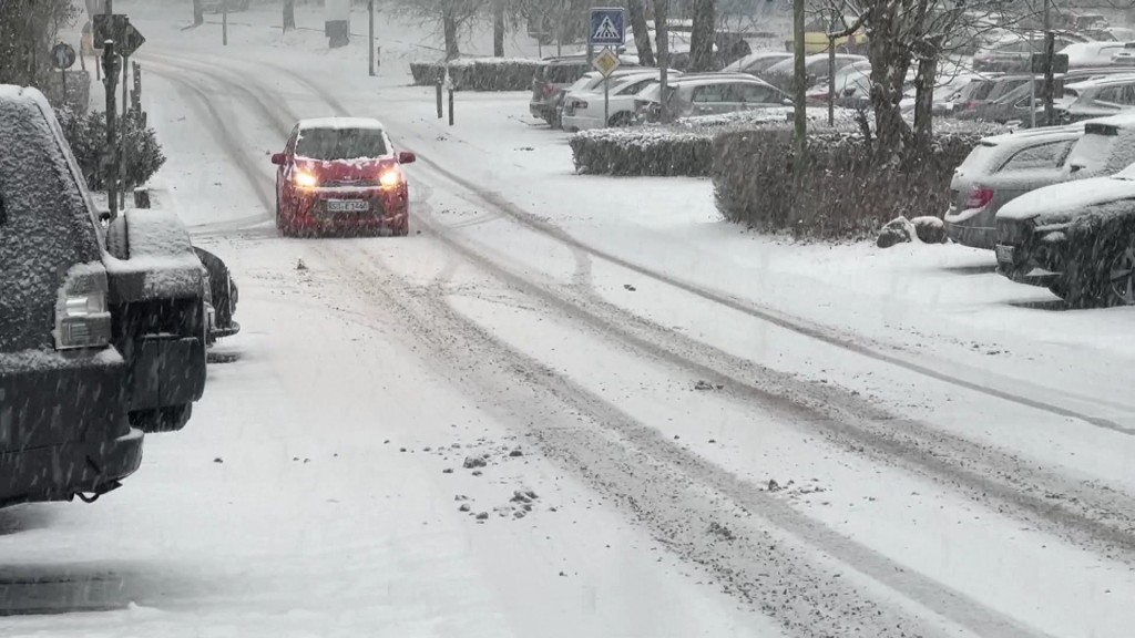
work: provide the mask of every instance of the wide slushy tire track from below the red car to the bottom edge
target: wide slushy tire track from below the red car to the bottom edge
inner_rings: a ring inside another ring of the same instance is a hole
[[[674,445],[454,311],[439,286],[424,295],[407,293],[419,287],[392,272],[369,247],[336,243],[312,250],[353,289],[397,312],[405,333],[422,337],[414,343],[431,346],[435,364],[469,396],[491,396],[503,420],[536,434],[545,453],[620,503],[671,552],[709,570],[730,594],[792,635],[931,637],[956,636],[965,628],[978,636],[1045,636],[816,524]],[[731,530],[732,539],[707,531],[714,523]],[[933,613],[913,613],[910,605],[894,603],[898,596]]]

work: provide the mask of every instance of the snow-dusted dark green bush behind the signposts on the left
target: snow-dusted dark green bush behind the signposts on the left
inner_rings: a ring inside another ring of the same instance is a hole
[[[86,185],[92,191],[107,188],[108,163],[103,159],[107,148],[107,116],[102,111],[75,115],[68,109],[56,111],[64,136],[75,153]],[[153,128],[144,126],[134,111],[118,120],[118,136],[126,136],[126,179],[132,185],[145,184],[166,163]],[[120,142],[119,142],[120,143]]]

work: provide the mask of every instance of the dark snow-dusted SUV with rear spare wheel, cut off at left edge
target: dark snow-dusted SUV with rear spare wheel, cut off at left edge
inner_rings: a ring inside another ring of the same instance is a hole
[[[204,269],[173,215],[103,229],[51,107],[0,85],[0,505],[96,497],[205,383]]]

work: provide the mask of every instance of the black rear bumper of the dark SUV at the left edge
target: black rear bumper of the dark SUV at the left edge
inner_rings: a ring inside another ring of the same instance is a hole
[[[125,378],[91,358],[0,375],[0,506],[102,494],[137,470]]]

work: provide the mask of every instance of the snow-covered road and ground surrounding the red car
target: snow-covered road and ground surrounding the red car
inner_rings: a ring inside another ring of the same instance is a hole
[[[1130,310],[573,175],[526,94],[449,127],[413,24],[379,22],[371,78],[268,9],[221,48],[180,3],[116,8],[155,205],[228,261],[244,330],[120,490],[0,511],[0,635],[1130,635]],[[268,156],[325,115],[418,152],[410,237],[277,237]]]

